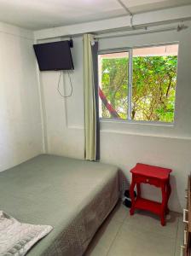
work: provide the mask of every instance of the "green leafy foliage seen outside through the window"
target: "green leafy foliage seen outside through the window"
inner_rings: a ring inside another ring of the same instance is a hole
[[[128,112],[128,58],[103,59],[101,87],[121,119]],[[133,58],[131,119],[173,122],[177,56]],[[102,116],[110,117],[102,104]]]

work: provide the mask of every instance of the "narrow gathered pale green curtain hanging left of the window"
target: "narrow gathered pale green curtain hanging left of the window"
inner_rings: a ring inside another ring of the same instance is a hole
[[[97,109],[95,90],[95,70],[93,35],[84,35],[84,157],[85,160],[97,159]]]

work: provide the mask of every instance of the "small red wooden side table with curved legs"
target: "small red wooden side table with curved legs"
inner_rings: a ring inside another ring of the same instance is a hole
[[[148,210],[160,216],[160,222],[165,225],[165,214],[169,212],[168,201],[171,195],[170,173],[171,169],[158,166],[148,166],[136,164],[130,170],[132,173],[132,182],[130,184],[131,208],[130,215],[133,215],[135,209]],[[162,190],[162,202],[151,201],[141,197],[140,183],[148,183]],[[136,186],[137,197],[135,200],[134,189]]]

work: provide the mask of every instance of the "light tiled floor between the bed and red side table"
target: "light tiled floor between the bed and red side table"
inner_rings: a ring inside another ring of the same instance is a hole
[[[162,227],[159,218],[119,203],[97,231],[84,256],[179,256],[183,241],[182,215],[171,212]]]

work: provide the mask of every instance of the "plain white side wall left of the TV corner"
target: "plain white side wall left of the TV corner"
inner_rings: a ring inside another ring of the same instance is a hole
[[[42,152],[33,34],[0,23],[0,171]]]

